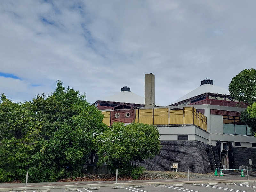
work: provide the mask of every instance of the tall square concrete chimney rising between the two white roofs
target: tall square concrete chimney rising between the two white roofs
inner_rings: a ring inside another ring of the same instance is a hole
[[[155,106],[155,76],[152,73],[145,74],[145,108]]]

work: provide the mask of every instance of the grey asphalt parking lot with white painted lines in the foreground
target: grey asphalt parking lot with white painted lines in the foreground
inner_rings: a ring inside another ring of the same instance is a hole
[[[141,187],[141,186],[140,186]],[[46,192],[43,190],[27,190],[26,192]],[[60,189],[48,189],[48,192],[65,192],[65,188]],[[217,185],[212,185],[209,183],[200,184],[200,186],[192,186],[192,184],[183,184],[182,186],[175,185],[163,185],[162,187],[155,187],[154,185],[146,185],[143,188],[138,186],[123,186],[123,188],[113,189],[113,187],[100,187],[100,189],[89,189],[87,188],[77,188],[68,189],[69,192],[222,192],[222,191],[233,191],[233,192],[252,192],[256,190],[256,183],[252,182],[249,185],[234,183],[234,185],[226,185],[225,183],[218,183]],[[25,192],[25,191],[23,191]]]

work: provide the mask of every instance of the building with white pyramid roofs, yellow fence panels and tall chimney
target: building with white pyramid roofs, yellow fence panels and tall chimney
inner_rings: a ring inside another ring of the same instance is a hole
[[[108,126],[113,122],[138,122],[158,127],[162,150],[141,165],[148,170],[170,171],[172,163],[178,163],[179,171],[189,168],[192,172],[210,172],[249,166],[249,159],[256,164],[256,138],[240,120],[248,104],[204,79],[172,104],[157,107],[154,78],[153,74],[145,75],[146,98],[125,86],[121,92],[93,104],[102,110]]]

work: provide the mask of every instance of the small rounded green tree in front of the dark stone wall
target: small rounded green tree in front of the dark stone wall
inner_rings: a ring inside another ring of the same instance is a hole
[[[114,123],[97,137],[97,142],[99,164],[106,163],[113,171],[129,175],[135,175],[139,163],[156,156],[161,148],[158,129],[142,123]]]

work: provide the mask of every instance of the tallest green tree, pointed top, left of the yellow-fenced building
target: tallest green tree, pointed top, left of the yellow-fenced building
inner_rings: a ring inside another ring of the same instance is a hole
[[[33,103],[38,119],[44,122],[44,142],[33,158],[36,166],[30,167],[32,174],[40,174],[41,181],[78,175],[95,148],[97,134],[107,127],[101,111],[91,106],[84,94],[65,89],[60,80],[51,96],[37,96]]]

